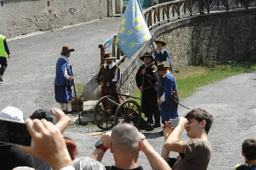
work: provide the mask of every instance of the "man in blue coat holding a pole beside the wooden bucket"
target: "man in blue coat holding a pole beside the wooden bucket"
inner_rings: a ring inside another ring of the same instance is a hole
[[[68,113],[68,102],[72,100],[72,80],[71,70],[68,63],[70,52],[75,51],[73,48],[69,49],[68,46],[63,46],[60,57],[56,63],[56,77],[54,81],[55,100],[60,103],[60,109],[64,113]]]

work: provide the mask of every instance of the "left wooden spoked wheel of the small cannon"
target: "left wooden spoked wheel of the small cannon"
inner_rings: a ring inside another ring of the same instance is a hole
[[[112,96],[104,96],[97,102],[94,108],[94,121],[102,130],[110,130],[115,126],[115,112],[113,111],[112,104],[107,102],[106,98],[117,102],[117,100]]]

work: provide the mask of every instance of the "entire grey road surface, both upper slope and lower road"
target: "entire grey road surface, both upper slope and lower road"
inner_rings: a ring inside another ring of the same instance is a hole
[[[59,56],[57,51],[63,45],[75,48],[71,53],[70,63],[76,73],[76,82],[88,82],[99,69],[100,50],[98,44],[116,33],[121,18],[103,18],[95,22],[56,29],[30,37],[9,41],[12,59],[0,84],[0,110],[5,106],[15,106],[28,117],[38,108],[58,107],[54,99],[53,80],[55,63]],[[210,85],[201,87],[182,101],[190,108],[203,108],[214,117],[208,139],[212,144],[212,158],[208,169],[232,169],[243,163],[241,145],[248,137],[255,135],[255,96],[256,72],[236,75]],[[178,109],[184,116],[188,110]],[[164,138],[158,135],[160,128],[152,132],[143,132],[149,143],[161,152]],[[78,157],[90,156],[94,143],[102,132],[96,127],[71,126],[64,135],[76,141]],[[188,139],[183,132],[181,140]],[[172,156],[175,156],[172,153]],[[112,154],[107,151],[102,163],[114,164]],[[150,169],[150,165],[140,153],[138,165]]]

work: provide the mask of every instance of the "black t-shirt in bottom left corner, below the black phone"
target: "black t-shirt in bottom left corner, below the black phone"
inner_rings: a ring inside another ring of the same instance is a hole
[[[28,166],[35,168],[31,155],[20,150],[15,145],[0,145],[0,169],[12,170],[17,166]]]

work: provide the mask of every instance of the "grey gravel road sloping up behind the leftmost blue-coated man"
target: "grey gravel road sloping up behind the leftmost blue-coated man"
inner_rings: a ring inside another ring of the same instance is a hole
[[[59,107],[53,85],[55,64],[60,56],[57,51],[65,45],[75,49],[69,63],[76,75],[76,84],[86,84],[100,69],[98,45],[116,33],[121,19],[102,18],[7,40],[11,59],[4,82],[0,82],[0,110],[14,106],[28,117],[39,108]]]

